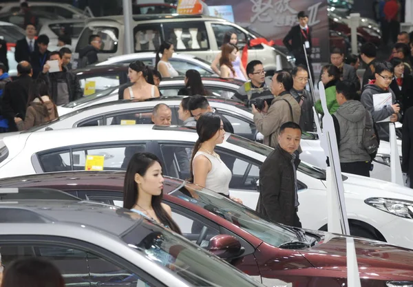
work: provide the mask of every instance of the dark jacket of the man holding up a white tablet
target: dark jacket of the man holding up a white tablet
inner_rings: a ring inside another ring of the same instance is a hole
[[[69,91],[69,101],[72,102],[81,98],[83,96],[83,91],[78,81],[78,77],[72,72],[67,71],[66,67],[62,67],[62,69],[62,72],[57,73],[63,73],[65,76],[67,89]],[[52,98],[53,103],[57,103],[57,73],[40,73],[39,75],[39,78],[43,78],[49,86],[50,98]]]

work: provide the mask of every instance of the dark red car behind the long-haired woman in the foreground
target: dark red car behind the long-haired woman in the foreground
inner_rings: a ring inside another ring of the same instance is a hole
[[[0,187],[60,189],[122,206],[124,176],[114,171],[43,173],[6,178]],[[164,202],[183,235],[264,285],[346,286],[346,236],[272,224],[218,193],[165,179]],[[413,251],[358,237],[354,242],[361,286],[412,286]]]

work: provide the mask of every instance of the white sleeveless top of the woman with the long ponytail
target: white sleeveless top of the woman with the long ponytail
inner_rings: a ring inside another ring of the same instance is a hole
[[[198,151],[193,158],[195,159],[201,155],[207,157],[212,165],[211,171],[207,174],[205,188],[228,196],[229,182],[231,182],[232,178],[231,170],[226,167],[226,164],[220,158],[215,158],[215,156],[204,151]]]

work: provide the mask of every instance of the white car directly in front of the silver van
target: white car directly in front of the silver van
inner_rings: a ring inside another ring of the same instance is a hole
[[[139,60],[145,63],[145,65],[155,67],[155,58],[155,52],[142,52],[114,56],[96,65],[129,64]],[[200,72],[201,76],[211,76],[212,74],[215,74],[211,69],[211,63],[190,54],[173,53],[173,56],[169,61],[178,72],[193,69]]]

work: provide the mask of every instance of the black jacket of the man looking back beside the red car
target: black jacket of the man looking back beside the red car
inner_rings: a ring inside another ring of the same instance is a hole
[[[295,173],[292,156],[279,145],[260,169],[257,213],[272,222],[293,226],[295,218]],[[300,160],[295,160],[297,169]]]

